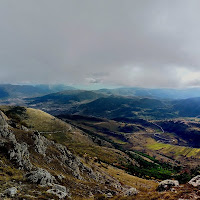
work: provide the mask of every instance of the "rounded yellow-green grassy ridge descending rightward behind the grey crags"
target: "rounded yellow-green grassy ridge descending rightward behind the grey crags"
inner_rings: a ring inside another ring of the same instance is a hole
[[[41,110],[33,108],[21,110],[21,107],[14,107],[13,109],[12,106],[1,106],[0,109],[9,113],[10,116],[13,116],[12,112],[20,110],[18,112],[20,114],[14,117],[21,124],[25,124],[29,129],[40,131],[45,137],[55,142],[66,145],[70,151],[79,156],[83,156],[86,153],[110,164],[127,162],[123,152],[96,145],[83,131]]]

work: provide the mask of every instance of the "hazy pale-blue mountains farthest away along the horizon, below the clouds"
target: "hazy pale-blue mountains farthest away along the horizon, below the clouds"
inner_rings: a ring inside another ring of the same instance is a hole
[[[0,99],[18,98],[18,97],[38,97],[65,90],[76,90],[76,88],[62,84],[52,84],[52,85],[0,84]],[[100,90],[94,90],[93,92],[104,95],[148,97],[156,99],[187,99],[193,97],[200,97],[200,88],[148,89],[148,88],[133,87],[133,88],[100,89]]]

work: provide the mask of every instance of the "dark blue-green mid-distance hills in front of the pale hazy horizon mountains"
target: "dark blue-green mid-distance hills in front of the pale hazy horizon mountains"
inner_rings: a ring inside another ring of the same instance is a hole
[[[29,98],[27,104],[54,115],[79,114],[109,119],[116,117],[170,119],[200,115],[200,97],[167,100],[69,90]]]

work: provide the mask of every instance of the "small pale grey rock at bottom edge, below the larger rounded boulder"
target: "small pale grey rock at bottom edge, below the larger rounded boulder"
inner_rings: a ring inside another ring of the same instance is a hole
[[[52,189],[47,190],[47,193],[56,195],[59,199],[63,199],[66,196],[70,197],[69,190],[65,186],[54,184]]]

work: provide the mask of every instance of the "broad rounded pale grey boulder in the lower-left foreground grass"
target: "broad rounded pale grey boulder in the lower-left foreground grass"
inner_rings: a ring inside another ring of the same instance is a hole
[[[40,185],[52,184],[55,181],[54,176],[52,176],[47,170],[41,168],[37,168],[36,170],[27,173],[26,177],[32,183]]]

